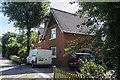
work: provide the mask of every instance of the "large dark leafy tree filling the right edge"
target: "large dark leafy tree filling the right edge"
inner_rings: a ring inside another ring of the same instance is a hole
[[[84,25],[101,25],[96,31],[96,38],[104,38],[102,54],[105,62],[113,65],[117,78],[120,78],[120,2],[71,2],[77,3],[80,9],[77,14],[80,17],[88,17]],[[94,29],[93,29],[94,30]]]

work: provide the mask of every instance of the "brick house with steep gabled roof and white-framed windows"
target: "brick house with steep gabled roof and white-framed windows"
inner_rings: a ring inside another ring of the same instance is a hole
[[[51,8],[50,20],[46,24],[43,33],[41,33],[43,29],[38,30],[42,35],[41,42],[37,44],[38,47],[52,50],[54,63],[67,66],[68,56],[63,57],[66,48],[65,43],[79,37],[85,38],[93,35],[87,34],[92,27],[82,27],[81,24],[85,21],[87,21],[87,18],[81,19],[72,13]]]

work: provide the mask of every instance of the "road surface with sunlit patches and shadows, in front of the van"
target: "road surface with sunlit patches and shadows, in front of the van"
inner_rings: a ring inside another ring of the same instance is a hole
[[[2,80],[7,80],[6,78],[14,78],[14,80],[20,78],[52,78],[53,69],[52,66],[45,67],[39,66],[32,68],[31,65],[17,65],[12,63],[12,61],[0,57],[0,78]]]

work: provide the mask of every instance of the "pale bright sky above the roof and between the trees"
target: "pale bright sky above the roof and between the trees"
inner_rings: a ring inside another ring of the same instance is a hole
[[[50,6],[52,8],[56,8],[59,10],[67,11],[70,13],[75,13],[78,10],[78,6],[76,4],[69,4],[71,0],[50,0]],[[2,12],[0,12],[0,36],[2,34],[9,32],[19,33],[19,31],[13,26],[13,22],[9,23],[8,17],[4,16]],[[8,24],[9,23],[9,24]],[[43,25],[41,25],[43,26]],[[37,31],[37,30],[36,30]]]

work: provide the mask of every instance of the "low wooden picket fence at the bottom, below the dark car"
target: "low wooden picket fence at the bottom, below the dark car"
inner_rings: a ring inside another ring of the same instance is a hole
[[[60,70],[54,66],[54,80],[98,80]]]

